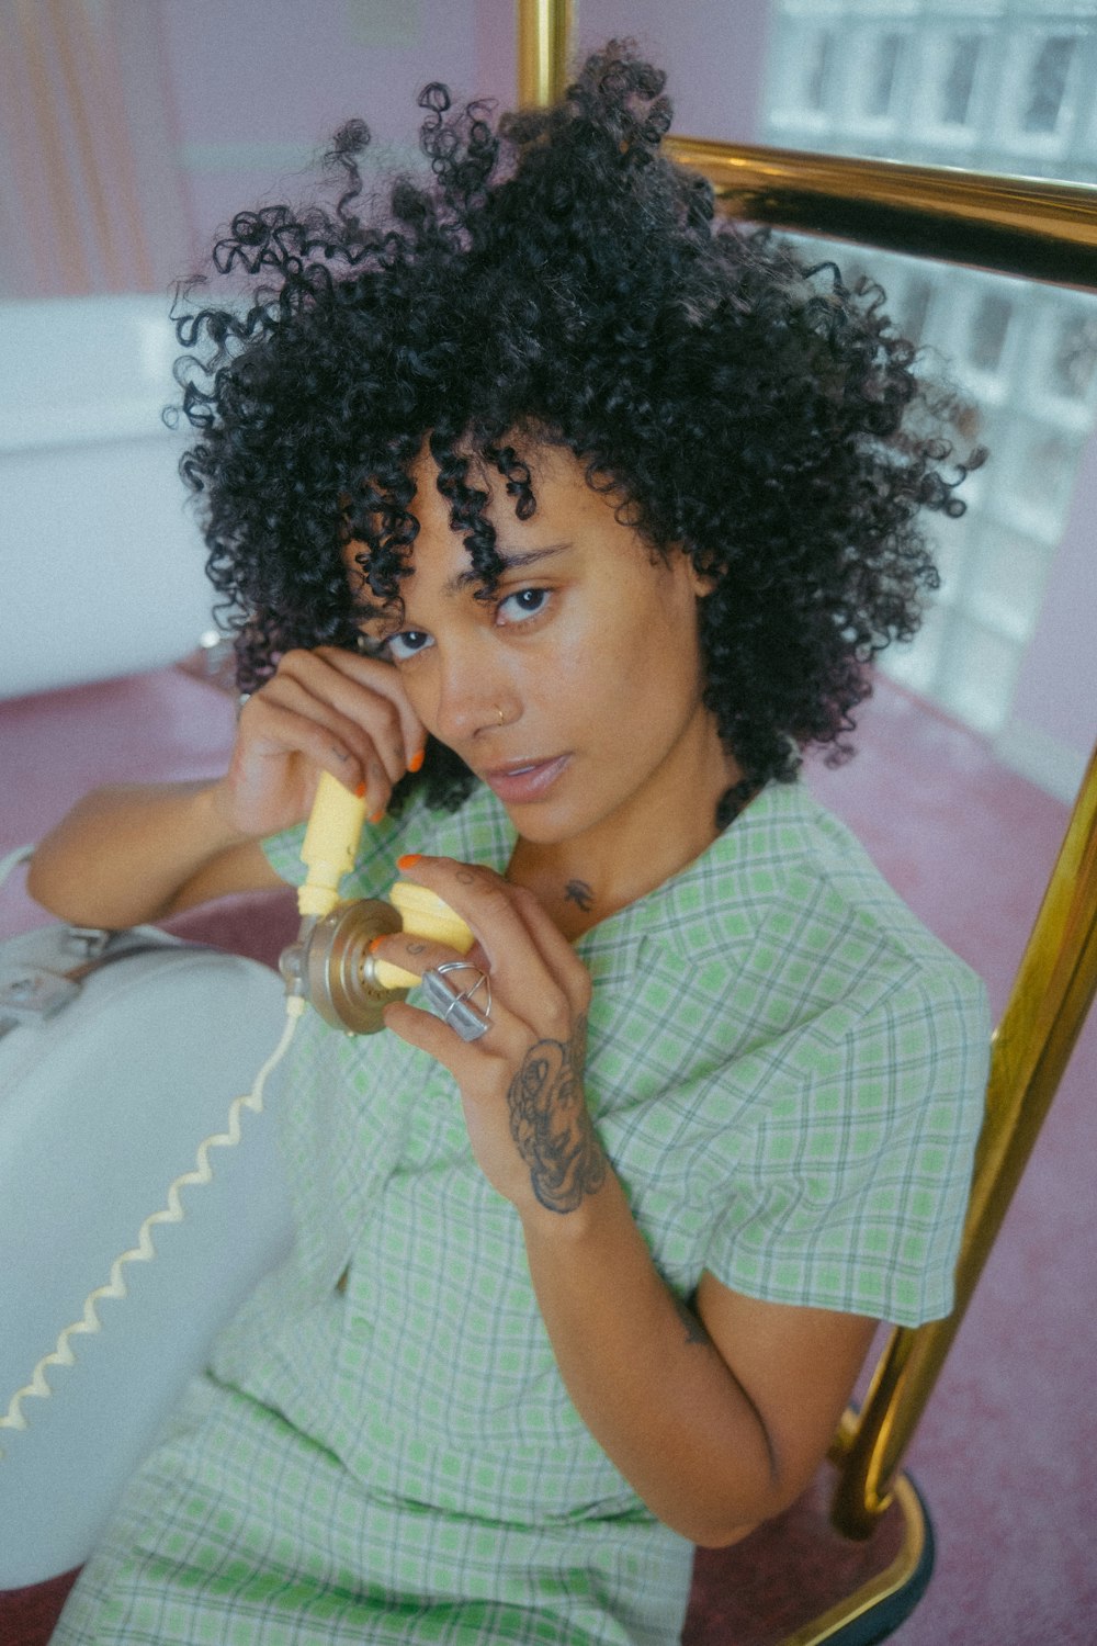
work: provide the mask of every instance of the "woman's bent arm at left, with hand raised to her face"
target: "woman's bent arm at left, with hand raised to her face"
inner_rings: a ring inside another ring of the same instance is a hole
[[[224,777],[92,792],[36,846],[28,890],[59,918],[125,927],[278,886],[258,843],[308,816],[321,770],[377,815],[423,742],[390,663],[288,652],[243,706]]]

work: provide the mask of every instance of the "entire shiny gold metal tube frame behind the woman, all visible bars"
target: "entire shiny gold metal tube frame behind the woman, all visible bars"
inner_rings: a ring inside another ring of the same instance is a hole
[[[571,0],[516,0],[518,99],[544,104],[567,77]],[[992,176],[951,166],[668,138],[669,155],[702,171],[720,209],[750,222],[847,239],[1003,275],[1097,291],[1097,188]],[[921,1557],[924,1526],[901,1460],[990,1254],[1059,1080],[1097,993],[1097,751],[992,1042],[987,1118],[946,1320],[896,1328],[859,1414],[835,1437],[831,1518],[845,1537],[870,1536],[895,1501],[906,1534],[872,1593],[850,1595],[788,1646],[834,1641],[882,1587],[901,1587]]]

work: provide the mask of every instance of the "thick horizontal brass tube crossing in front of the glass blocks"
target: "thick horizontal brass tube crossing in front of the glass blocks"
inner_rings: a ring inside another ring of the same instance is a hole
[[[1097,290],[1097,186],[668,137],[720,209],[1002,275]]]

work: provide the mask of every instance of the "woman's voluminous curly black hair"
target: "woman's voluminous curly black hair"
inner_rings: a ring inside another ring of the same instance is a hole
[[[232,296],[178,318],[197,430],[181,467],[253,690],[291,647],[355,645],[350,540],[373,596],[400,597],[424,441],[488,588],[484,474],[528,518],[526,458],[567,448],[655,553],[714,583],[706,703],[745,774],[727,821],[806,746],[849,752],[868,665],[937,584],[919,515],[962,512],[965,466],[959,408],[914,372],[882,290],[717,222],[711,186],[660,153],[663,86],[618,43],[551,109],[451,112],[428,86],[433,181],[400,176],[368,209],[368,130],[345,125],[336,199],[237,216],[214,250]],[[401,792],[419,782],[452,805],[472,774],[431,744]]]

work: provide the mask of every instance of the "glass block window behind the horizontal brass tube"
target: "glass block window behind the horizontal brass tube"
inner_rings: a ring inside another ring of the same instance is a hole
[[[773,0],[761,140],[1097,183],[1092,0]],[[946,365],[990,448],[960,522],[931,522],[941,591],[883,667],[987,736],[1025,647],[1097,421],[1097,296],[804,237]]]

